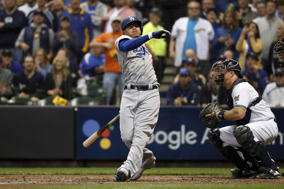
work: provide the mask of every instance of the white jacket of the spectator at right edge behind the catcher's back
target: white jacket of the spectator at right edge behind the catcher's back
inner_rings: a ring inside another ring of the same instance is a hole
[[[284,86],[277,87],[275,82],[267,84],[262,98],[270,107],[275,107],[277,104],[284,106]]]

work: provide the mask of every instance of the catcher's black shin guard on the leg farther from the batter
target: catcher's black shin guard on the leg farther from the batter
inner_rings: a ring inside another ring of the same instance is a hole
[[[277,164],[271,159],[263,144],[260,141],[254,141],[254,135],[248,126],[238,126],[234,129],[233,135],[241,147],[259,164],[259,167],[277,170]]]

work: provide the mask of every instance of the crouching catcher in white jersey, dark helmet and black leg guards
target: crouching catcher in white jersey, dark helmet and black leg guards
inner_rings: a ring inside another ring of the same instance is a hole
[[[237,61],[225,59],[216,62],[212,70],[215,71],[213,76],[217,87],[227,88],[226,100],[231,109],[218,111],[217,120],[235,120],[237,125],[210,130],[208,138],[211,144],[238,167],[238,170],[231,170],[233,178],[256,175],[279,178],[279,167],[264,147],[278,135],[277,122],[270,107],[254,87],[242,79]]]

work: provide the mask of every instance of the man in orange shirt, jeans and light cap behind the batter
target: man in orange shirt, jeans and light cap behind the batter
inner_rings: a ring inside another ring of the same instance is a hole
[[[101,33],[98,38],[90,43],[90,47],[100,45],[105,50],[106,63],[104,67],[103,87],[107,89],[107,105],[110,104],[112,92],[116,84],[118,84],[119,87],[120,98],[124,90],[124,80],[114,47],[115,40],[123,35],[120,17],[114,17],[112,19],[112,29],[112,33]]]

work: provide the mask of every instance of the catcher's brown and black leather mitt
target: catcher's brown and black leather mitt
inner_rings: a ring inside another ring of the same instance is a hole
[[[201,118],[207,128],[214,129],[219,123],[216,118],[216,113],[219,111],[225,112],[219,103],[209,103],[201,110],[199,118]],[[211,114],[211,117],[205,117],[207,114]]]

